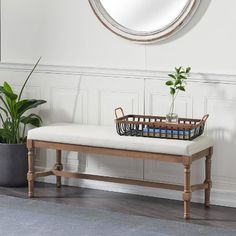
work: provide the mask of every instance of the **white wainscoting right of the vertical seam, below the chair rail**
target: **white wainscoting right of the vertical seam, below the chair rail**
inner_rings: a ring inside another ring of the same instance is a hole
[[[155,92],[158,89],[161,93]],[[206,133],[215,143],[212,176],[213,187],[236,190],[236,96],[235,85],[189,82],[186,93],[176,99],[176,111],[182,117],[199,117],[210,114]],[[168,92],[164,81],[150,80],[146,84],[146,113],[164,115],[168,111]],[[183,182],[183,167],[146,161],[145,178],[167,182]],[[192,181],[204,179],[204,162],[193,164]]]

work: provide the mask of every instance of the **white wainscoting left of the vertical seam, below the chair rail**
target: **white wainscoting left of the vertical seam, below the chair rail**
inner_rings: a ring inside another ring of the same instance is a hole
[[[23,83],[27,67],[12,72],[1,70],[2,77],[9,83]],[[36,72],[31,78],[28,91],[32,88],[31,97],[36,96],[47,100],[42,106],[41,115],[45,124],[57,122],[75,122],[83,124],[114,125],[114,109],[122,106],[127,112],[143,113],[143,81],[135,78],[111,78],[99,75],[81,75],[77,71],[68,73]],[[11,78],[11,79],[8,79]],[[3,80],[1,80],[3,81]],[[18,85],[19,87],[19,85]],[[35,92],[35,87],[39,92]],[[42,92],[43,91],[43,92]],[[27,91],[26,91],[27,92]],[[33,94],[32,94],[33,92]],[[52,151],[40,151],[38,156],[49,158],[37,159],[39,166],[52,166]],[[98,155],[63,153],[63,164],[66,169],[79,170],[102,175],[126,176],[143,178],[143,161],[137,159],[116,159]]]

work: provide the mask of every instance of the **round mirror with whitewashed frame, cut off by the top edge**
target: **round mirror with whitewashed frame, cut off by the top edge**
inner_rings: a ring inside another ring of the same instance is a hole
[[[183,27],[200,0],[89,0],[99,20],[126,39],[165,39]]]

